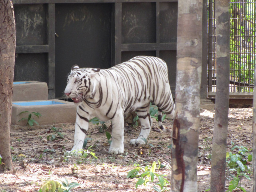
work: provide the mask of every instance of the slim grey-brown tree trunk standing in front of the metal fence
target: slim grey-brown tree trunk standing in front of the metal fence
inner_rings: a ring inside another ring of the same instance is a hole
[[[225,191],[229,106],[230,24],[229,1],[215,1],[216,12],[216,104],[212,141],[211,192]]]

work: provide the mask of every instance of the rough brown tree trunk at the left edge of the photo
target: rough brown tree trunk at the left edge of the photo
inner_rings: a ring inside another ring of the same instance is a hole
[[[0,154],[4,170],[12,170],[10,124],[15,59],[15,21],[12,1],[0,1]]]

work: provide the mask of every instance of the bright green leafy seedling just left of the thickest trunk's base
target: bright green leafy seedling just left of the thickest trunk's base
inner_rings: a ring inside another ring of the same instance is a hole
[[[158,160],[158,169],[161,168],[161,162]],[[156,162],[153,162],[152,165],[147,165],[146,167],[138,166],[136,169],[131,170],[127,174],[127,178],[137,178],[138,181],[135,184],[135,187],[138,188],[139,185],[146,186],[148,182],[154,182],[155,178],[158,178],[158,182],[155,184],[160,188],[153,186],[152,188],[157,192],[166,191],[166,186],[169,184],[168,180],[164,178],[164,175],[159,175],[156,172]],[[141,172],[141,174],[140,174]]]

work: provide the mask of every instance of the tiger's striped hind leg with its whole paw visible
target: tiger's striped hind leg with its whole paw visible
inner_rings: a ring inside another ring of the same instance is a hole
[[[148,138],[148,135],[150,133],[151,126],[152,126],[152,118],[149,114],[149,109],[150,109],[150,105],[148,104],[136,110],[140,120],[141,130],[140,130],[140,135],[138,136],[137,139],[130,140],[131,145],[146,144],[144,140]]]

